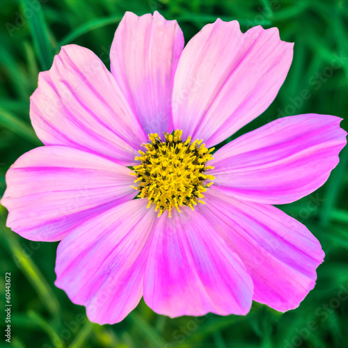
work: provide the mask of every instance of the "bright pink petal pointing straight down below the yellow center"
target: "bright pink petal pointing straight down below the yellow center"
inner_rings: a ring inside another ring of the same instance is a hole
[[[202,215],[186,208],[171,219],[167,213],[157,219],[145,270],[145,302],[170,317],[248,313],[253,285],[244,264]]]

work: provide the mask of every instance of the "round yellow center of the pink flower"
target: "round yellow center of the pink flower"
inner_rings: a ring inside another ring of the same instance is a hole
[[[166,141],[161,141],[158,134],[150,134],[149,143],[142,144],[146,152],[139,150],[141,161],[139,166],[134,166],[136,176],[134,182],[139,182],[139,198],[148,198],[155,205],[158,216],[175,207],[180,212],[180,206],[187,205],[193,210],[193,205],[203,203],[203,192],[207,191],[214,180],[212,175],[205,172],[214,169],[206,166],[207,161],[212,159],[211,152],[214,148],[207,149],[203,140],[193,141],[191,136],[187,141],[182,141],[182,131],[176,130],[173,134],[164,133]],[[209,182],[205,182],[208,180]]]

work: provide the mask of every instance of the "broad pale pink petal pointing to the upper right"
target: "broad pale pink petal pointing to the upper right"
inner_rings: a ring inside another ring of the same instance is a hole
[[[182,52],[173,88],[173,122],[207,147],[225,140],[273,102],[292,62],[293,44],[278,29],[242,33],[217,19]]]

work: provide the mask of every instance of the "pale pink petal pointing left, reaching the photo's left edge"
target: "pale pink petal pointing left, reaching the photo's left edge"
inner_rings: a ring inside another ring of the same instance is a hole
[[[130,170],[64,146],[19,157],[6,174],[7,226],[26,239],[54,242],[82,221],[135,196]]]

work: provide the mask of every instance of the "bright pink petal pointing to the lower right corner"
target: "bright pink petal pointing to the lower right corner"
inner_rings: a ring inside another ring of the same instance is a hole
[[[213,187],[197,207],[212,221],[253,279],[253,300],[284,312],[315,285],[324,252],[299,221],[272,205],[242,202]]]

